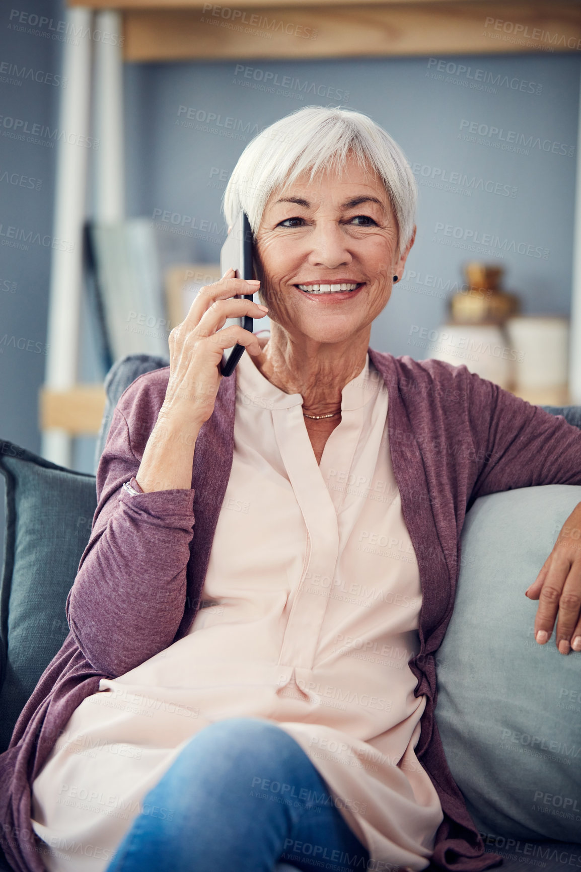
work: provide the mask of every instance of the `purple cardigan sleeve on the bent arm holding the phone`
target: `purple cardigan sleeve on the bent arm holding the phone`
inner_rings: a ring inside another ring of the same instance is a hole
[[[129,494],[165,388],[146,373],[113,412],[97,471],[91,538],[66,602],[72,636],[116,678],[172,644],[186,602],[194,490]]]

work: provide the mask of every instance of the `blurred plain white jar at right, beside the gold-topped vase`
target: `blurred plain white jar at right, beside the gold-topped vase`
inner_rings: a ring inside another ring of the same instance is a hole
[[[506,323],[506,330],[509,343],[518,350],[516,392],[542,392],[541,397],[546,392],[552,392],[551,396],[558,392],[566,395],[569,361],[567,318],[543,315],[512,317]]]

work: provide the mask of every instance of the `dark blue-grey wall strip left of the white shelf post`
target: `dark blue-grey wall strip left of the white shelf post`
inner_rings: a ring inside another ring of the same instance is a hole
[[[17,10],[17,16],[11,12]],[[38,452],[38,389],[44,381],[52,205],[62,43],[40,17],[61,3],[0,8],[0,439]],[[29,24],[29,21],[35,23]],[[35,127],[36,125],[36,127]],[[33,132],[23,133],[23,131]],[[30,237],[29,242],[23,240]],[[0,548],[3,541],[0,480]]]

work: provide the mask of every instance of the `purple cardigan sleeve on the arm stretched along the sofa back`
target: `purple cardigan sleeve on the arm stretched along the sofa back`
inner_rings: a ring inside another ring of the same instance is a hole
[[[581,485],[581,430],[461,369],[475,460],[470,503],[516,487]]]

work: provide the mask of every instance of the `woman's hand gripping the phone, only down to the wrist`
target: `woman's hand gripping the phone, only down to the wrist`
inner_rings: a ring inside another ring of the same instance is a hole
[[[254,333],[236,324],[222,330],[227,318],[262,318],[268,311],[242,296],[256,293],[260,282],[233,276],[234,269],[229,269],[201,288],[188,315],[169,334],[169,382],[160,414],[198,430],[214,411],[223,351],[239,344],[249,354],[260,353]]]

